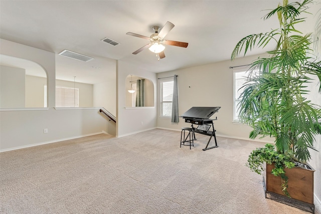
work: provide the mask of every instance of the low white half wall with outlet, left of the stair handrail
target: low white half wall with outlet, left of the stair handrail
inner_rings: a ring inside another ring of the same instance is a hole
[[[0,111],[0,116],[1,151],[107,131],[106,118],[92,108],[8,110]]]

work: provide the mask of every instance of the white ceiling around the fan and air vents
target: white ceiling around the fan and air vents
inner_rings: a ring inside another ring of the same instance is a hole
[[[57,79],[74,81],[76,76],[77,82],[94,84],[115,78],[115,60],[155,73],[229,60],[240,39],[278,27],[276,17],[263,17],[279,2],[1,0],[0,37],[56,53]],[[127,32],[149,37],[153,26],[167,21],[175,27],[165,39],[187,42],[187,48],[166,46],[166,58],[159,61],[148,49],[132,54],[149,41]],[[105,37],[120,45],[102,42]],[[94,60],[59,56],[65,49]]]

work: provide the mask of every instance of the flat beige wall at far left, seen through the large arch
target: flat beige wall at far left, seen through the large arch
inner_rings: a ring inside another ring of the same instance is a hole
[[[0,66],[0,107],[24,108],[26,105],[26,70]]]

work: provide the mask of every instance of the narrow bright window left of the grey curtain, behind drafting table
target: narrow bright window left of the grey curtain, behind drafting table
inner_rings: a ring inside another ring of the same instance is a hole
[[[161,117],[172,117],[174,80],[161,81]]]

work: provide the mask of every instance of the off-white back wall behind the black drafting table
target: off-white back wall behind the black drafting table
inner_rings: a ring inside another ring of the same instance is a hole
[[[233,123],[233,69],[229,67],[247,65],[258,56],[239,58],[233,62],[230,60],[208,65],[186,68],[177,71],[159,73],[157,78],[178,75],[179,86],[179,114],[193,106],[219,106],[221,109],[211,118],[214,121],[216,134],[248,139],[251,128],[247,125]],[[242,68],[242,67],[241,67]],[[243,67],[246,68],[246,67]],[[240,69],[234,68],[234,69]],[[157,86],[159,97],[159,81]],[[190,126],[180,118],[178,124],[171,123],[171,119],[161,118],[160,103],[157,99],[157,127],[181,130],[184,126]],[[264,138],[265,141],[274,141]]]

